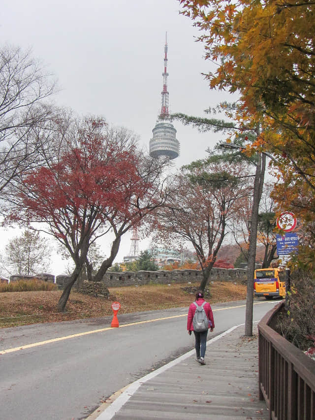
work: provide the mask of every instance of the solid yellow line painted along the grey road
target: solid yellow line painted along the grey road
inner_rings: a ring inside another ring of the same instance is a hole
[[[257,302],[257,303],[254,303],[254,305],[259,305],[259,304],[262,304],[262,303],[270,303],[270,302]],[[229,306],[227,308],[214,309],[213,312],[223,311],[223,310],[226,310],[226,309],[242,308],[244,306],[246,306],[246,305]],[[126,327],[126,326],[131,326],[131,325],[143,324],[143,323],[153,323],[153,322],[156,322],[156,321],[170,320],[172,318],[181,318],[181,317],[187,317],[187,314],[173,315],[171,317],[156,318],[154,320],[137,321],[135,323],[122,324],[122,325],[119,326],[119,328],[123,328],[123,327]],[[77,334],[65,335],[64,337],[57,337],[57,338],[52,338],[50,340],[39,341],[37,343],[26,344],[26,345],[23,345],[23,346],[14,347],[12,349],[1,350],[0,355],[6,355],[8,353],[18,352],[19,350],[31,349],[32,347],[43,346],[44,344],[56,343],[57,341],[68,340],[69,338],[81,337],[83,335],[95,334],[96,332],[103,332],[103,331],[109,331],[109,330],[115,330],[115,328],[112,328],[112,327],[109,326],[109,327],[106,327],[106,328],[94,329],[92,331],[78,332]]]

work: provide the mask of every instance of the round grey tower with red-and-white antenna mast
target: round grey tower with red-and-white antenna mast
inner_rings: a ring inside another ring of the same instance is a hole
[[[167,119],[168,117],[168,90],[167,90],[167,32],[165,34],[164,46],[164,72],[162,107],[160,118]],[[168,157],[169,159],[178,158],[180,152],[180,144],[176,138],[176,129],[173,124],[167,122],[157,122],[155,128],[152,130],[153,137],[150,140],[149,152],[151,158],[158,159],[159,157]]]

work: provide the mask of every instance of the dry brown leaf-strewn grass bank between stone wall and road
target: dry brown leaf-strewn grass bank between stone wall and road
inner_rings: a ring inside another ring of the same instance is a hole
[[[183,288],[191,285],[147,285],[109,288],[109,299],[71,292],[65,313],[56,306],[62,291],[16,291],[0,293],[0,328],[32,323],[61,322],[112,315],[111,304],[119,301],[120,313],[185,307],[193,295]],[[246,298],[246,286],[230,282],[210,285],[211,303]]]

